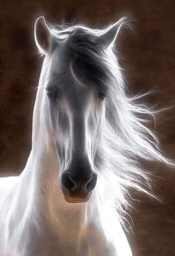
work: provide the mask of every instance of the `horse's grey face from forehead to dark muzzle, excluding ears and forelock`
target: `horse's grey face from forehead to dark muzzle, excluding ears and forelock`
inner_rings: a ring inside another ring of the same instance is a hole
[[[57,49],[50,58],[45,97],[59,157],[62,191],[68,202],[78,203],[87,201],[96,186],[93,162],[105,104],[102,93],[81,82],[77,76],[81,70],[63,55]]]

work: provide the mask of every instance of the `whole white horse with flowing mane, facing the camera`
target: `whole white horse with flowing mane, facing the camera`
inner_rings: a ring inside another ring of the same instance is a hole
[[[132,255],[122,219],[128,188],[147,192],[138,160],[170,161],[144,124],[152,111],[125,92],[113,50],[122,24],[36,20],[45,57],[32,150],[19,177],[0,179],[0,256]]]

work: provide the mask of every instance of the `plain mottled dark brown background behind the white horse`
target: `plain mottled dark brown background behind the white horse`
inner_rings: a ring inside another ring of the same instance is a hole
[[[0,174],[19,174],[31,146],[33,103],[42,59],[33,40],[38,16],[49,22],[76,22],[103,27],[122,16],[134,19],[116,47],[131,93],[154,89],[146,99],[157,108],[175,101],[175,2],[156,0],[2,1],[0,2]],[[175,108],[156,119],[162,149],[175,158]],[[159,203],[132,192],[131,246],[135,256],[175,255],[175,173],[150,166]]]

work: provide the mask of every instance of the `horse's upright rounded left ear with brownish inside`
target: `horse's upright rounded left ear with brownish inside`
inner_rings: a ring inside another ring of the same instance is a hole
[[[39,50],[42,53],[49,53],[52,46],[52,36],[43,16],[36,19],[34,34]]]

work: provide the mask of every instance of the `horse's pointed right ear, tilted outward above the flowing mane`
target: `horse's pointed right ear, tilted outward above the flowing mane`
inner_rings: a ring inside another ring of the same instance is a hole
[[[99,42],[101,42],[101,45],[104,45],[105,47],[108,47],[113,44],[116,40],[116,36],[119,33],[120,27],[122,27],[122,24],[125,22],[126,18],[123,17],[122,19],[119,19],[118,22],[114,23],[113,25],[110,25],[105,33],[103,33],[101,36],[99,36]]]

